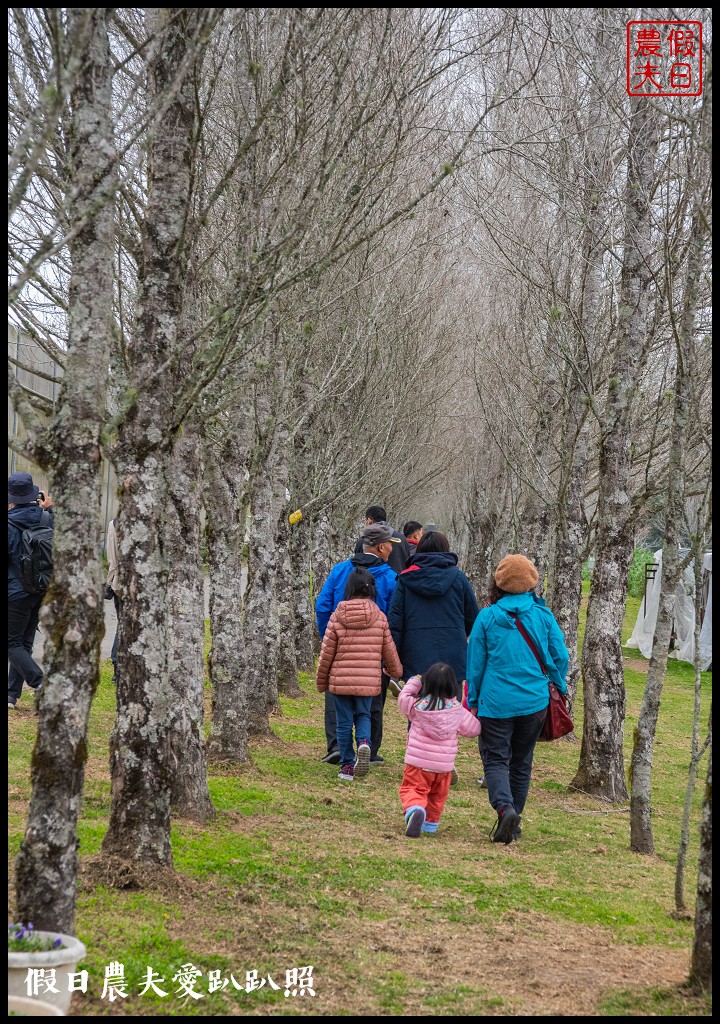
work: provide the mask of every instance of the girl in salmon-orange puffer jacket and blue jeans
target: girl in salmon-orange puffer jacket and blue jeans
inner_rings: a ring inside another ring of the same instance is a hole
[[[365,568],[353,569],[347,578],[344,598],[330,616],[317,662],[315,685],[321,693],[329,690],[334,696],[342,766],[338,778],[347,782],[368,774],[370,710],[373,697],[380,692],[383,662],[391,675],[403,673],[387,618],[375,603],[376,598],[372,573]]]

